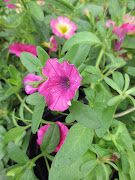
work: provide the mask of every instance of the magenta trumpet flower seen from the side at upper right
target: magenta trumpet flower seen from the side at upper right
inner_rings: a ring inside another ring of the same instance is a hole
[[[123,24],[120,28],[115,26],[115,22],[108,20],[105,24],[105,27],[110,27],[110,25],[113,24],[113,33],[117,34],[119,37],[119,41],[115,40],[115,52],[119,52],[121,50],[121,45],[123,43],[124,37],[127,32],[133,32],[135,31],[135,26],[131,25],[129,23]]]

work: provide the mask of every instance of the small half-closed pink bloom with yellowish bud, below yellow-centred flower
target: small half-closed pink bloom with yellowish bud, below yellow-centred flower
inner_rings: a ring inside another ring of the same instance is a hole
[[[56,41],[56,37],[55,37],[55,36],[52,36],[52,37],[50,38],[50,42],[49,42],[49,43],[43,42],[42,45],[43,45],[44,47],[49,48],[49,56],[51,55],[51,51],[56,52],[56,51],[57,51],[57,48],[58,48],[58,43],[57,43],[57,41]]]

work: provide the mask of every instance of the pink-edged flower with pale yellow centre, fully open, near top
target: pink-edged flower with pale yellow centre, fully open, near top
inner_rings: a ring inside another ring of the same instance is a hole
[[[56,34],[58,37],[65,37],[69,39],[71,36],[75,34],[77,26],[70,22],[67,17],[58,17],[57,20],[51,20],[52,32]]]

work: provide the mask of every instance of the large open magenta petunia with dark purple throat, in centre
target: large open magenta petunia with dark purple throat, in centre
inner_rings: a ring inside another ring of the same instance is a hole
[[[48,107],[52,111],[68,109],[82,80],[75,65],[68,61],[60,64],[56,58],[48,59],[42,73],[48,79],[38,86],[38,91],[45,96]]]

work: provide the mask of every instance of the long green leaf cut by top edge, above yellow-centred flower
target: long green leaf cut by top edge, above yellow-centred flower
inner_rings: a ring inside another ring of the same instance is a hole
[[[50,5],[53,4],[53,6],[63,10],[63,12],[67,14],[73,13],[73,10],[75,9],[74,6],[72,6],[71,4],[69,4],[64,0],[44,0],[44,1]]]

